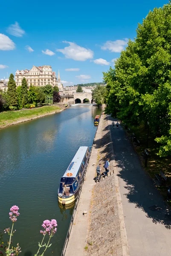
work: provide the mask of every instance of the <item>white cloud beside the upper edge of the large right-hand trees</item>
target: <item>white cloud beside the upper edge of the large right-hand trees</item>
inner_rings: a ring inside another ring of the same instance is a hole
[[[102,50],[109,50],[110,52],[121,52],[125,45],[127,45],[128,39],[125,40],[116,40],[116,41],[107,41],[102,47]]]

